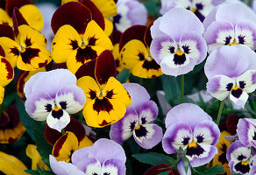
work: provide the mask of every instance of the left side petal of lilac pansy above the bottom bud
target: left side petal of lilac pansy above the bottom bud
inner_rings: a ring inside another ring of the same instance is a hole
[[[179,148],[186,148],[193,140],[193,132],[189,124],[176,123],[167,128],[162,145],[167,154],[173,154]]]

